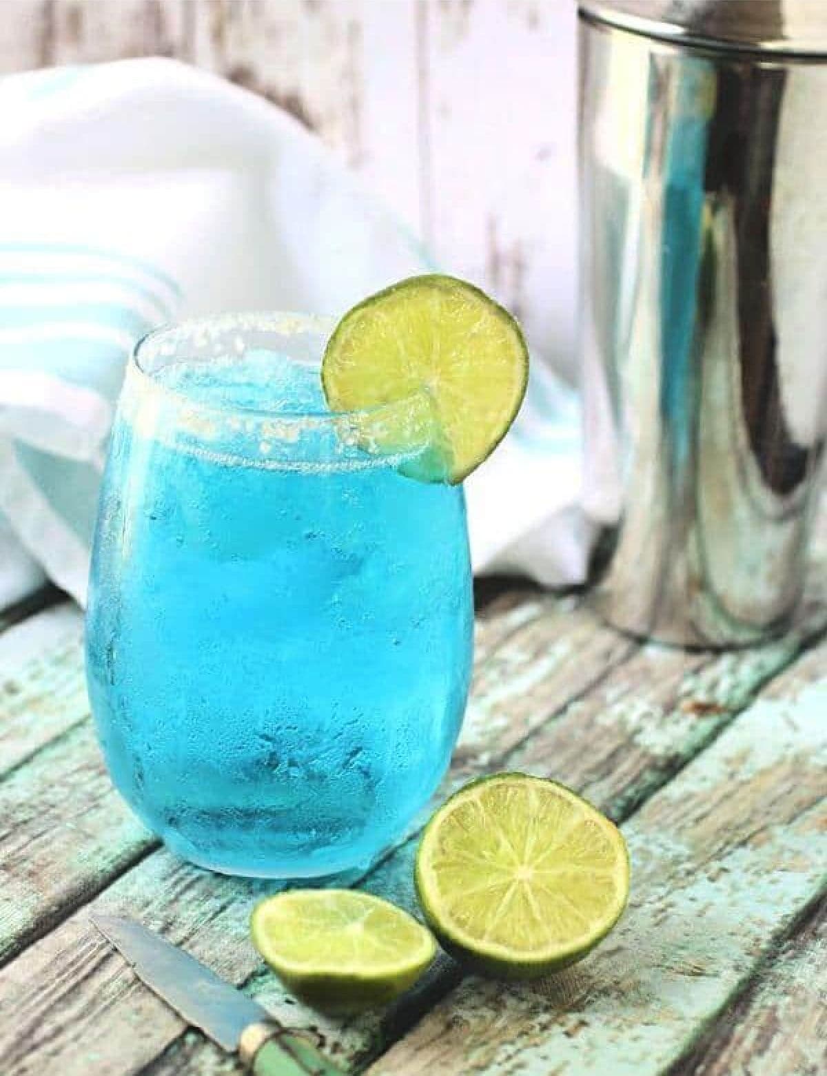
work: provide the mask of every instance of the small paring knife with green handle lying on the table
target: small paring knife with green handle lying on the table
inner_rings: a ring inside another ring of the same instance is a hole
[[[97,914],[89,918],[146,986],[223,1050],[237,1050],[254,1076],[342,1076],[342,1070],[309,1038],[288,1031],[265,1008],[159,934],[130,919]]]

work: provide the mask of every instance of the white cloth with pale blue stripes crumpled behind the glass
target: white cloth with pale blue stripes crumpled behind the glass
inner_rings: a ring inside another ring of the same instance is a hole
[[[138,338],[228,310],[337,315],[434,267],[292,116],[186,65],[10,75],[0,114],[0,556],[83,604]],[[515,427],[466,483],[476,571],[583,578],[577,410],[534,362]]]

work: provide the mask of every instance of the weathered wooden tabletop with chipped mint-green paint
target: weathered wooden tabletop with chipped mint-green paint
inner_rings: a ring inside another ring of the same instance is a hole
[[[135,978],[92,907],[162,930],[375,1076],[826,1073],[825,552],[796,629],[723,654],[633,642],[576,595],[509,589],[491,600],[488,586],[446,788],[508,767],[581,790],[626,833],[630,907],[595,952],[547,981],[482,981],[440,958],[401,1004],[347,1022],[304,1008],[257,960],[247,922],[267,887],[180,862],[113,791],[79,610],[53,590],[8,610],[0,1074],[240,1072]],[[411,835],[364,886],[415,908],[415,846]]]

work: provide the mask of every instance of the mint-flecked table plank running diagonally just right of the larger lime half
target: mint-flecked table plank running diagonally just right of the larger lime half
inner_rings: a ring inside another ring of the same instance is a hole
[[[827,645],[780,676],[623,826],[612,938],[535,986],[466,979],[368,1071],[659,1074],[825,887]]]

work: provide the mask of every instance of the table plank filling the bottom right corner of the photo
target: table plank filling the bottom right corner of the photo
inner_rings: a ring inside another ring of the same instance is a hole
[[[827,1072],[827,900],[670,1076]]]

